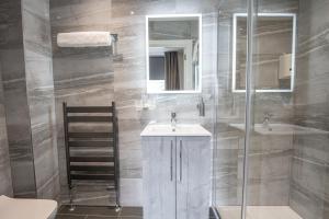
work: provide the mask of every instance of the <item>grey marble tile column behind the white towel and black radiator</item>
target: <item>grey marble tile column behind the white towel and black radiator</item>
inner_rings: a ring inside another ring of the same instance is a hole
[[[111,48],[59,48],[57,34],[75,31],[109,31],[111,1],[50,1],[53,66],[56,96],[57,143],[61,200],[68,200],[63,126],[63,102],[68,105],[110,105],[114,101],[114,67]],[[103,184],[76,187],[78,204],[107,205],[114,200]]]

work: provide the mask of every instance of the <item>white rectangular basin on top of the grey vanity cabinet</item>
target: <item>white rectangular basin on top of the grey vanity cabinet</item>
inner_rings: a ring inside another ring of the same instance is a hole
[[[140,136],[212,136],[212,134],[198,124],[178,124],[174,130],[170,124],[149,124]]]

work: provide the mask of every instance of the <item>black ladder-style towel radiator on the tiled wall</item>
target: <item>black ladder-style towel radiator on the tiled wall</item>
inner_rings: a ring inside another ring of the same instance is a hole
[[[63,103],[64,131],[67,162],[67,180],[70,193],[70,206],[73,210],[72,188],[76,181],[105,181],[114,183],[115,208],[120,205],[120,152],[118,152],[118,126],[115,103],[111,106],[67,106]],[[112,131],[70,131],[71,124],[110,124]],[[76,155],[71,154],[75,148],[105,148],[112,153],[109,155]]]

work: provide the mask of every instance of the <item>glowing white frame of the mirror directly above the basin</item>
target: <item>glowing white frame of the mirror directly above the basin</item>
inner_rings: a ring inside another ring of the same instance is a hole
[[[149,20],[150,19],[167,19],[167,18],[196,18],[198,20],[198,88],[195,90],[182,90],[182,91],[154,91],[150,90],[149,85]],[[202,14],[157,14],[157,15],[146,15],[146,88],[149,94],[161,94],[161,93],[201,93],[202,92]]]

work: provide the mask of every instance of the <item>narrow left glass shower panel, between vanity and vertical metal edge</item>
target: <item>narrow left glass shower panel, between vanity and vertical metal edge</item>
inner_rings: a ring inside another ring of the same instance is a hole
[[[234,49],[238,13],[248,13],[247,1],[219,3],[213,206],[222,219],[240,219],[242,209],[246,93],[232,91],[232,57],[238,55],[237,59],[245,62],[237,68],[243,71],[247,43],[243,49]]]

